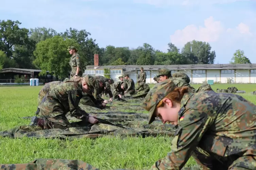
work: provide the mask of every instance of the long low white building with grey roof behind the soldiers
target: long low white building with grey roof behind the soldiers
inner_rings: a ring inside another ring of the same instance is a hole
[[[168,68],[172,73],[186,73],[191,84],[202,84],[208,80],[219,83],[256,83],[256,64],[88,65],[85,74],[104,76],[104,69],[109,69],[110,78],[114,81],[123,74],[129,74],[136,83],[140,67],[147,73],[146,83],[155,83],[153,78],[161,68]]]

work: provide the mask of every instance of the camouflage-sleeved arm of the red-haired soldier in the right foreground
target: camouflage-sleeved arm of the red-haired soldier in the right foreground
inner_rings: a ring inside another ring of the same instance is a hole
[[[187,109],[175,131],[171,152],[157,161],[151,170],[182,169],[212,123],[213,119],[203,111]]]

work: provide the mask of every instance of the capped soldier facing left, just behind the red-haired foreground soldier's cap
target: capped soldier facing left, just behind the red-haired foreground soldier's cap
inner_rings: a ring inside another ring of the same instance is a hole
[[[191,87],[189,83],[187,83],[187,80],[184,80],[179,77],[172,77],[171,75],[171,70],[167,68],[163,68],[158,70],[158,75],[160,81],[164,81],[166,79],[171,79],[177,87],[182,87],[182,86],[189,86],[191,90],[195,90],[194,87]]]

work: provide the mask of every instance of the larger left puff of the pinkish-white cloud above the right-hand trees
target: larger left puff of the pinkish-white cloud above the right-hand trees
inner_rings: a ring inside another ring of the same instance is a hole
[[[218,41],[220,34],[224,31],[224,27],[220,21],[214,21],[213,17],[204,20],[204,27],[188,25],[182,30],[176,30],[170,36],[171,42],[177,46],[183,46],[188,41],[197,40],[205,42]]]

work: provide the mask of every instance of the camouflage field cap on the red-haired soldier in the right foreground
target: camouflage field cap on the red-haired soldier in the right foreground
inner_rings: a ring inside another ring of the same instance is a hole
[[[171,79],[166,79],[156,84],[146,95],[142,102],[141,107],[149,111],[149,124],[151,124],[155,118],[155,109],[157,104],[166,97],[167,94],[172,92],[176,88]]]

